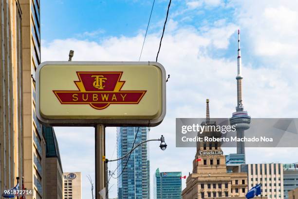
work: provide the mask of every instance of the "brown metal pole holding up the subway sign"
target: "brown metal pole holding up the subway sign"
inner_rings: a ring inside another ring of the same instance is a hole
[[[105,137],[105,126],[103,124],[97,124],[95,126],[95,199],[103,198],[99,192],[102,191],[106,185],[104,159],[106,153]]]

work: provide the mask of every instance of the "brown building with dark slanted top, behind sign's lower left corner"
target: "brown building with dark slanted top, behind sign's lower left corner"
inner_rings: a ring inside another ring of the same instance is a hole
[[[42,127],[46,140],[46,198],[63,199],[63,170],[53,127]]]

